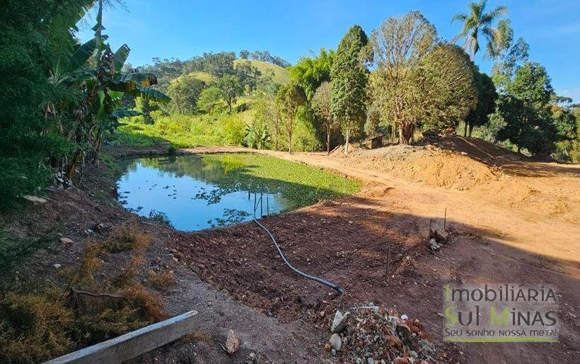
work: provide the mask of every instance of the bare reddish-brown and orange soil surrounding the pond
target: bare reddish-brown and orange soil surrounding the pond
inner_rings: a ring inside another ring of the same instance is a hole
[[[144,152],[149,150],[129,154]],[[441,362],[580,362],[578,165],[533,161],[459,137],[349,156],[215,147],[182,152],[260,152],[364,181],[356,195],[261,220],[297,268],[341,285],[345,293],[289,271],[253,222],[185,233],[140,218],[155,237],[147,264],[177,274],[178,285],[165,293],[168,313],[197,309],[207,340],[178,342],[139,360],[241,363],[254,352],[265,362],[340,361],[323,349],[335,309],[373,302],[419,319]],[[112,176],[88,174],[88,192],[51,193],[49,203],[11,219],[14,234],[58,225],[75,241],[71,248],[55,241],[21,270],[21,279],[42,281],[53,263],[74,264],[83,241],[91,239],[85,229],[102,223],[96,234],[105,236],[106,229],[135,218],[103,199],[115,196],[112,183]],[[426,246],[429,224],[441,229],[445,210],[451,242],[432,253]],[[443,285],[456,281],[555,285],[559,343],[442,343]],[[219,345],[228,329],[242,341],[232,357]]]

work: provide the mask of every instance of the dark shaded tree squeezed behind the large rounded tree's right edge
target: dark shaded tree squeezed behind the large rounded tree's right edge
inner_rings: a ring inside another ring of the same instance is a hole
[[[470,110],[465,118],[465,130],[463,135],[471,137],[471,132],[476,126],[482,126],[489,123],[489,115],[494,113],[497,101],[497,92],[494,81],[485,73],[480,73],[477,69],[475,72],[475,85],[477,87],[477,106]]]

